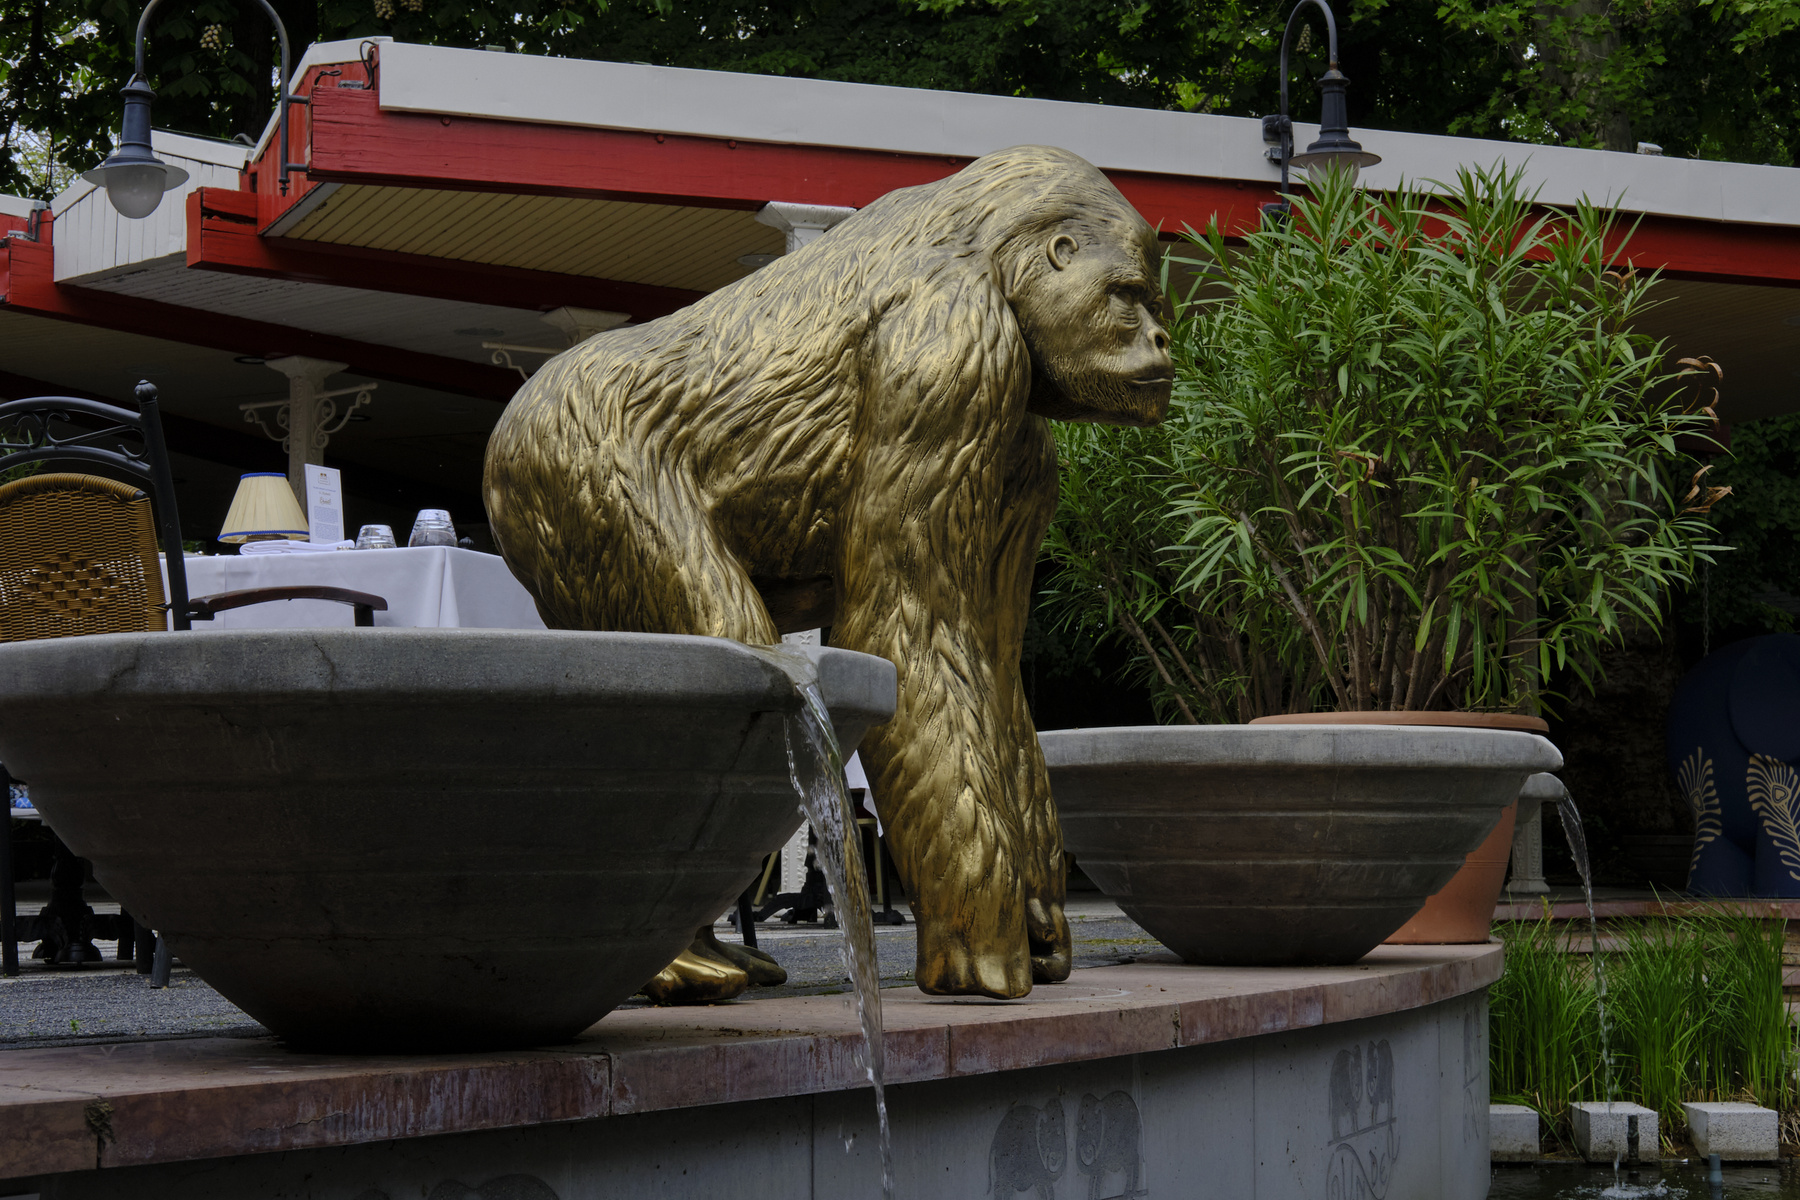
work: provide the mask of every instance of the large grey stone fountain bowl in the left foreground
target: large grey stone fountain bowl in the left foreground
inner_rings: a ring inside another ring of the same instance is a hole
[[[891,716],[895,669],[808,658],[848,754]],[[290,1042],[544,1045],[799,828],[781,662],[536,630],[13,642],[0,761],[126,910]]]

